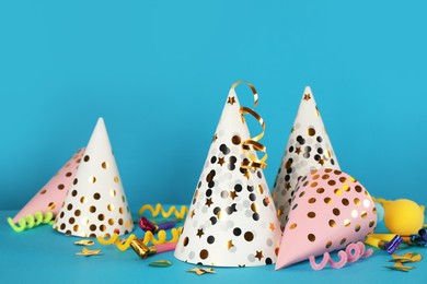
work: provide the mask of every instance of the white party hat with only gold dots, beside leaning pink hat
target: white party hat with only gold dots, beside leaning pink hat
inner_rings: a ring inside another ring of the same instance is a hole
[[[100,118],[54,228],[79,237],[105,237],[134,229],[104,120]]]

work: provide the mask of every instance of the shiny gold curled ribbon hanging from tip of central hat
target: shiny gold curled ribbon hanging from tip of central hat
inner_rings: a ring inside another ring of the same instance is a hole
[[[241,83],[246,84],[252,90],[252,94],[254,95],[254,108],[255,108],[256,105],[258,104],[258,93],[256,92],[256,88],[254,87],[253,84],[251,84],[249,82],[244,82],[244,81],[238,81],[231,85],[231,88],[234,90]],[[263,131],[259,134],[257,134],[253,138],[250,138],[241,143],[243,153],[250,159],[250,162],[245,162],[245,161],[242,162],[241,167],[242,168],[253,168],[253,169],[266,168],[267,167],[266,161],[267,161],[267,156],[268,156],[267,149],[262,143],[258,142],[264,137],[264,133],[265,133],[264,119],[255,110],[253,110],[249,107],[240,107],[240,114],[242,115],[242,117],[244,115],[251,115],[253,118],[255,118],[259,122],[261,127],[263,128]],[[251,153],[250,151],[263,152],[264,156],[262,158],[258,158],[256,154]]]

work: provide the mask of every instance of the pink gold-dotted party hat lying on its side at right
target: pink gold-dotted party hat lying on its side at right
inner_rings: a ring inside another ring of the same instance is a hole
[[[281,238],[276,270],[363,240],[377,223],[369,192],[337,169],[300,178]]]

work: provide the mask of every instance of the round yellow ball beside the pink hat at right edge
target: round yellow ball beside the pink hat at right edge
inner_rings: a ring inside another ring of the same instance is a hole
[[[401,236],[417,234],[424,224],[424,206],[412,200],[399,199],[384,204],[385,227]]]

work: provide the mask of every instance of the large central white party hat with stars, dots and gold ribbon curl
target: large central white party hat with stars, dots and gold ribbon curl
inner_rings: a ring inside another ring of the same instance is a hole
[[[176,245],[175,257],[185,262],[214,267],[276,262],[280,224],[262,169],[265,159],[249,151],[251,145],[263,147],[251,139],[242,114],[252,113],[263,121],[240,106],[234,90],[239,83],[227,97]]]

